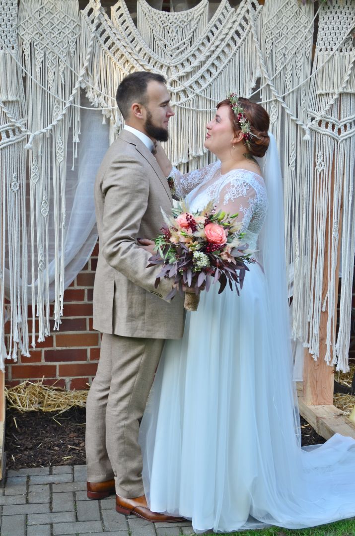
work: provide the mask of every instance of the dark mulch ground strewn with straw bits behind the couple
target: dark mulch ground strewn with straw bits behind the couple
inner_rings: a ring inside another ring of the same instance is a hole
[[[323,437],[301,418],[302,445],[324,443]],[[84,465],[85,408],[61,414],[6,410],[6,467]]]

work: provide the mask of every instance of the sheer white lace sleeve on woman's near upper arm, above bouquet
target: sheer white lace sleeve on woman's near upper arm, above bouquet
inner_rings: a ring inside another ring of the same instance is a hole
[[[242,232],[248,229],[256,205],[257,193],[248,181],[233,179],[220,190],[218,209],[230,214],[238,212],[236,221],[242,222]]]

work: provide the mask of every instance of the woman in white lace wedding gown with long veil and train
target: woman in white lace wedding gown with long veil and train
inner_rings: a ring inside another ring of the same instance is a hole
[[[151,510],[191,519],[195,532],[355,516],[355,442],[335,435],[300,448],[282,182],[268,129],[260,105],[231,94],[207,125],[217,163],[181,175],[161,147],[156,155],[191,212],[215,199],[239,213],[258,260],[240,296],[212,285],[187,313],[183,339],[166,342],[140,426]]]

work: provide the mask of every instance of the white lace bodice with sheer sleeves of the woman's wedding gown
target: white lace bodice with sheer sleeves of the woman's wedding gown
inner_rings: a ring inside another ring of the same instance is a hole
[[[268,209],[264,180],[246,169],[232,169],[224,175],[220,169],[220,161],[185,175],[173,168],[176,193],[186,199],[193,212],[203,209],[212,199],[217,209],[230,214],[238,212],[237,220],[242,222],[249,248],[256,250]]]

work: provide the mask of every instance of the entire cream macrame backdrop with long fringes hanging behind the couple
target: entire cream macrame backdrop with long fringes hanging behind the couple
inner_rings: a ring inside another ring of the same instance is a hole
[[[355,0],[334,0],[332,6],[320,7],[313,65],[315,14],[309,1],[303,6],[298,0],[265,0],[261,6],[256,0],[241,0],[236,9],[227,0],[172,0],[171,4],[172,8],[179,4],[179,11],[160,11],[158,0],[129,2],[136,10],[135,25],[124,0],[118,0],[110,14],[100,0],[88,0],[81,12],[77,0],[20,0],[16,26],[17,2],[0,0],[0,24],[5,28],[0,35],[1,243],[5,251],[0,304],[6,295],[12,330],[6,352],[0,317],[1,358],[8,354],[16,358],[17,345],[28,355],[27,303],[32,303],[39,318],[39,340],[49,333],[48,306],[53,299],[58,327],[64,289],[85,264],[97,237],[92,184],[103,153],[122,126],[114,98],[117,85],[128,73],[147,70],[167,79],[175,109],[167,152],[181,170],[213,159],[203,143],[205,125],[218,101],[230,91],[261,98],[270,114],[285,177],[294,336],[309,346],[316,359],[320,314],[328,309],[326,360],[345,371],[355,244],[351,37]],[[81,103],[79,87],[87,96],[84,100],[82,95]],[[24,150],[26,135],[28,151]],[[326,240],[328,293],[322,300]],[[341,314],[337,343],[332,345],[339,240]],[[27,288],[31,289],[28,296]],[[31,342],[34,346],[34,324]]]

